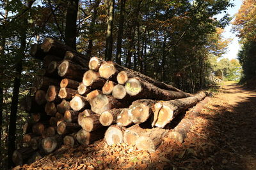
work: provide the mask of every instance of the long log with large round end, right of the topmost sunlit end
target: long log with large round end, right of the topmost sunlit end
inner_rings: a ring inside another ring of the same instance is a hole
[[[129,78],[129,77],[131,77],[131,78],[139,77],[139,78],[141,78],[145,81],[148,81],[149,83],[152,83],[153,85],[155,85],[156,87],[159,87],[160,89],[166,89],[166,90],[173,90],[173,91],[176,91],[176,92],[181,92],[181,90],[173,87],[172,85],[167,85],[166,83],[154,80],[154,79],[152,79],[148,76],[145,76],[144,74],[133,71],[132,69],[122,67],[119,64],[116,64],[115,62],[105,62],[104,64],[101,64],[101,66],[99,68],[100,76],[102,76],[103,78],[106,78],[106,79],[117,76],[117,74],[120,71],[125,71],[125,73],[127,74],[126,75],[127,78]],[[125,78],[122,78],[122,79],[125,80]],[[121,82],[121,84],[122,84],[122,82]]]

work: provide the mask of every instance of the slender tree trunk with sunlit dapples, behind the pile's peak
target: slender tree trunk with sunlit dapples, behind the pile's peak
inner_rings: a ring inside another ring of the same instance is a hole
[[[105,59],[112,60],[112,49],[113,49],[113,20],[115,11],[115,0],[109,1],[109,18],[108,18],[108,30],[106,39],[106,52]]]

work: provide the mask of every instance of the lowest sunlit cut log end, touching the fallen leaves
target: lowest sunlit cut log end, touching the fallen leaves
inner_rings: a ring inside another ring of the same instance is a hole
[[[146,136],[140,136],[135,143],[139,150],[148,150],[148,152],[154,152],[156,150],[152,139]]]

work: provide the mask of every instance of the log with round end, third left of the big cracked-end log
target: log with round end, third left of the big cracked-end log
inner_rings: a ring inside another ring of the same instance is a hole
[[[123,109],[113,109],[104,111],[100,114],[100,124],[104,126],[109,126],[116,123],[117,116],[121,113]]]

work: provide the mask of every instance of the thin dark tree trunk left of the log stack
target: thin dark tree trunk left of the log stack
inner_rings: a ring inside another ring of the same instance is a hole
[[[20,76],[22,71],[22,58],[24,57],[24,51],[26,48],[26,25],[28,19],[24,18],[22,23],[22,28],[20,29],[20,50],[17,53],[15,60],[15,78],[13,85],[13,95],[12,95],[12,105],[11,105],[11,114],[10,114],[10,125],[8,132],[8,167],[12,167],[12,153],[15,150],[15,133],[16,133],[16,118],[17,118],[17,109],[19,102],[19,89],[20,89]]]

